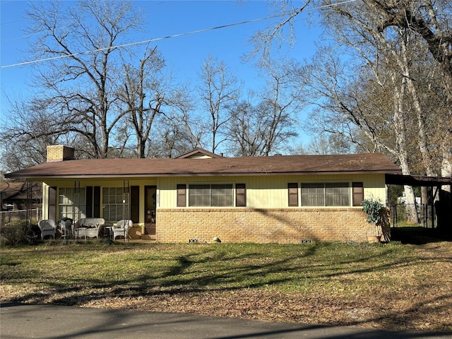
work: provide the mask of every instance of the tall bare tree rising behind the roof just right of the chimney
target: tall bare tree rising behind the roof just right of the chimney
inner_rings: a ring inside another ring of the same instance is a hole
[[[62,6],[59,6],[62,5]],[[124,112],[117,106],[117,45],[138,25],[131,3],[82,0],[74,6],[54,1],[31,4],[30,44],[36,64],[36,97],[59,112],[60,132],[88,142],[88,157],[107,157],[110,133]],[[52,133],[49,131],[48,133]]]

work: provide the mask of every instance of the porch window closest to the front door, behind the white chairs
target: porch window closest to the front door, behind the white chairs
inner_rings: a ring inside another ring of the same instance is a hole
[[[128,219],[129,194],[124,194],[124,187],[104,187],[102,189],[102,218],[107,222],[117,222]]]

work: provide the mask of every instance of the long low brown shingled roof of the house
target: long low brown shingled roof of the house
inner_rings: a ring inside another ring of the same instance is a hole
[[[400,174],[400,167],[381,153],[210,159],[86,159],[47,162],[6,174],[5,177],[45,179],[337,173]]]

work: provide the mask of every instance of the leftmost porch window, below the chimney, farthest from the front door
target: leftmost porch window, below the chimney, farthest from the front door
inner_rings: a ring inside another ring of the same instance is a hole
[[[78,192],[75,192],[73,187],[60,187],[58,204],[60,219],[66,217],[76,221],[78,218],[85,218],[85,188],[80,188]]]

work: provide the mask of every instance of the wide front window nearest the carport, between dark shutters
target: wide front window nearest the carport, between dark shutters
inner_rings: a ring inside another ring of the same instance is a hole
[[[302,206],[350,206],[348,183],[302,184]]]

